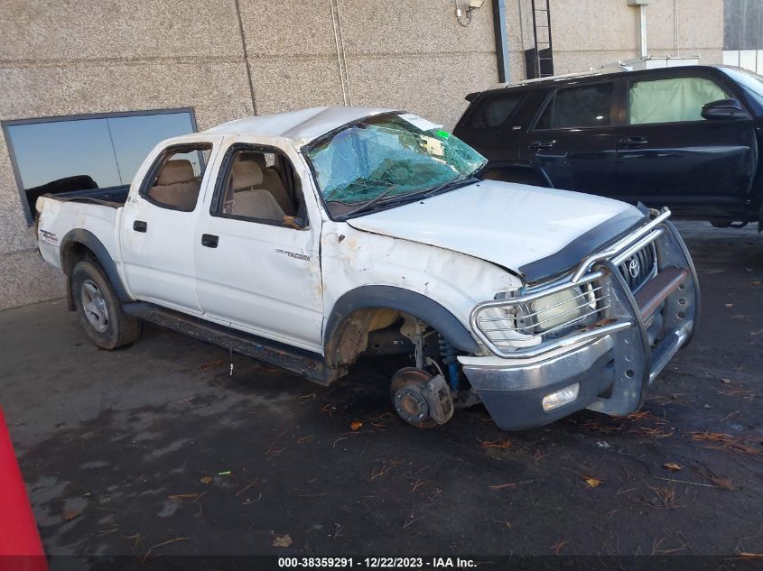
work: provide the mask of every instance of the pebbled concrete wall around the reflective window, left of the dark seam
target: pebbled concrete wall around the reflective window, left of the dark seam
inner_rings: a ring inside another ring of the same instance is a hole
[[[0,119],[193,107],[200,128],[252,112],[232,2],[3,0]],[[0,309],[63,294],[38,257],[5,141]]]

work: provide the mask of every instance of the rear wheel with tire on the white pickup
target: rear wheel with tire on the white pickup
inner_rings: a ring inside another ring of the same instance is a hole
[[[71,272],[71,296],[85,333],[101,349],[130,345],[140,336],[140,320],[122,311],[114,288],[98,263],[77,262]]]

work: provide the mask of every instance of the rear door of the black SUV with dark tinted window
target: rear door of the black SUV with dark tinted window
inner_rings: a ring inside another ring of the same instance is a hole
[[[557,87],[524,137],[520,157],[556,189],[611,192],[615,176],[617,80]]]

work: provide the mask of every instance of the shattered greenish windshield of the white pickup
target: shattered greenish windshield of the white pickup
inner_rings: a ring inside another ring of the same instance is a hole
[[[486,159],[416,115],[376,115],[317,140],[305,152],[331,216],[352,216],[439,192]]]

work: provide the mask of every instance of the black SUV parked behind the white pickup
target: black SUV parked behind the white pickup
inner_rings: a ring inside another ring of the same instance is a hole
[[[489,159],[485,178],[763,226],[763,77],[747,70],[601,69],[467,100],[454,133]]]

